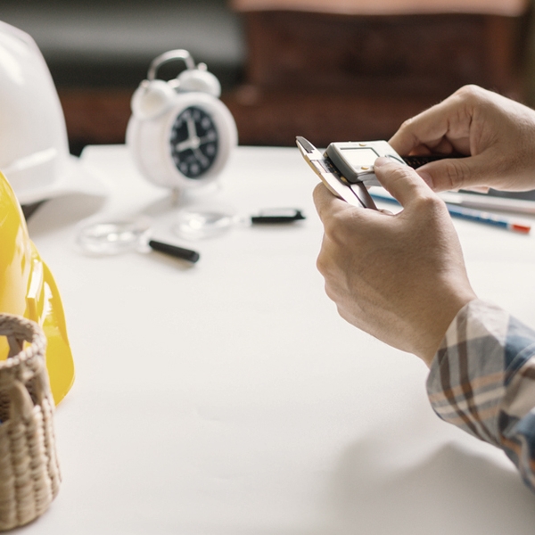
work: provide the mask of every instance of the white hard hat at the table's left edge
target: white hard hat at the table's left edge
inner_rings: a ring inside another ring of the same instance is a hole
[[[69,153],[62,105],[35,41],[2,21],[0,171],[21,204],[63,193],[105,193]]]

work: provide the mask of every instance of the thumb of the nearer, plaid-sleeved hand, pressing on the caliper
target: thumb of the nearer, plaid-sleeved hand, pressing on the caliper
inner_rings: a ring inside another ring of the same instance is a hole
[[[418,197],[432,193],[415,169],[391,158],[378,158],[374,162],[375,176],[384,189],[395,197],[401,206],[406,207]]]

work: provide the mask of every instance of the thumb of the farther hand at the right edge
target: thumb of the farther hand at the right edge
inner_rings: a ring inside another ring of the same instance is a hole
[[[478,154],[466,158],[432,161],[416,169],[416,172],[432,190],[443,192],[483,185],[483,182],[489,181],[492,170],[488,158]]]

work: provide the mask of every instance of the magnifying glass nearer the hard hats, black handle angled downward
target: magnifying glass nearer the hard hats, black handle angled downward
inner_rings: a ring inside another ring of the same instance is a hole
[[[78,232],[76,243],[82,251],[94,255],[143,251],[148,246],[153,251],[192,263],[200,258],[197,251],[152,240],[150,235],[151,222],[148,218],[116,219],[83,226]]]

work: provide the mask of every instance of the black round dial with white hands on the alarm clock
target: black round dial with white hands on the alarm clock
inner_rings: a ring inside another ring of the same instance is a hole
[[[190,106],[175,119],[170,136],[171,157],[188,178],[202,178],[218,155],[218,130],[210,115]]]

